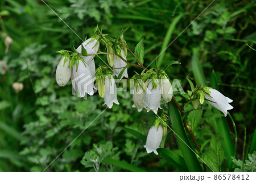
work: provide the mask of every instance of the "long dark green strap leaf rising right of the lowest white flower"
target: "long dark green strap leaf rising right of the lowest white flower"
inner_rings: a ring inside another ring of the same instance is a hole
[[[203,171],[195,152],[192,151],[193,147],[191,146],[187,134],[185,133],[183,122],[181,121],[180,117],[180,111],[175,105],[174,100],[168,102],[168,113],[177,138],[177,142],[189,171]]]

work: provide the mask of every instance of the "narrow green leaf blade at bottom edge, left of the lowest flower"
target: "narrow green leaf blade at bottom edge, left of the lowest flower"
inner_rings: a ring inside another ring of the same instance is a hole
[[[115,159],[111,159],[111,158],[104,158],[104,160],[102,161],[103,163],[106,164],[112,164],[114,166],[118,166],[122,169],[127,169],[129,171],[133,171],[133,172],[146,172],[145,169],[139,168],[137,166],[134,166],[132,164],[129,164],[125,161],[121,161],[121,160],[115,160]]]

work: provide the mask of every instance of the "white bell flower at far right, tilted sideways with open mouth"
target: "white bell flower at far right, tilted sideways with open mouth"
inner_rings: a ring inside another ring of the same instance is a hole
[[[205,94],[205,98],[207,100],[210,100],[212,102],[209,102],[210,105],[215,107],[216,109],[222,111],[224,113],[225,117],[228,114],[228,110],[233,109],[233,106],[229,103],[233,102],[228,97],[225,97],[222,93],[218,92],[218,90],[215,89],[209,89],[210,96],[208,94]]]

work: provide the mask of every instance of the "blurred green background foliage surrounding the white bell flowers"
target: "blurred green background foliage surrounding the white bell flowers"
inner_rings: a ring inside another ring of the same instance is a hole
[[[171,67],[167,74],[171,80],[179,79],[185,91],[189,89],[185,77],[195,82],[191,64],[193,52],[196,53],[207,84],[210,86],[210,74],[214,70],[221,92],[234,100],[230,113],[238,130],[237,159],[245,162],[249,147],[255,146],[251,140],[255,133],[256,55],[250,48],[255,48],[256,43],[255,1],[45,2],[82,39],[92,36],[97,24],[104,26],[104,33],[112,37],[130,26],[125,33],[126,42],[134,50],[144,38],[146,66],[175,40],[151,66],[163,66],[167,60],[180,61],[181,65]],[[71,82],[64,88],[56,84],[60,55],[55,52],[69,49],[71,38],[76,47],[81,40],[47,5],[40,0],[0,2],[0,171],[43,171],[49,164],[46,171],[187,170],[159,155],[146,153],[144,139],[155,121],[155,114],[145,110],[138,113],[131,108],[133,101],[129,92],[119,91],[120,105],[105,110],[98,95],[84,100],[72,96]],[[204,13],[193,22],[202,11]],[[127,59],[136,63],[131,54]],[[102,64],[98,57],[95,60],[96,64]],[[129,76],[132,75],[134,71],[129,69]],[[23,88],[15,88],[14,82],[22,83]],[[181,105],[184,103],[179,95],[176,100]],[[167,105],[163,107],[166,109]],[[233,171],[234,166],[227,167],[222,139],[213,130],[222,114],[208,104],[199,110],[188,105],[185,113],[205,162],[214,171]],[[228,123],[234,140],[229,118]],[[86,127],[88,129],[61,154]],[[127,132],[129,129],[142,135],[134,137],[136,134]],[[171,131],[164,147],[180,155]]]

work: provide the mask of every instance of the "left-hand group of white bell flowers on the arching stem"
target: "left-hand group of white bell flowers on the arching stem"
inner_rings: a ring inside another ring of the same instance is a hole
[[[72,88],[78,93],[79,97],[85,97],[86,94],[90,96],[94,94],[94,89],[96,89],[94,85],[94,81],[96,80],[94,56],[98,52],[100,45],[98,40],[90,38],[76,49],[78,53],[82,53],[82,46],[86,49],[88,56],[81,56],[83,60],[77,60],[78,63],[75,63],[73,68],[70,67],[69,57],[63,56],[56,69],[57,84],[59,86],[65,86],[71,79]],[[125,53],[122,49],[121,56],[126,60]],[[118,68],[113,69],[113,76],[118,76],[122,68],[126,67],[127,63],[116,55],[113,55],[113,57],[113,67]],[[101,79],[101,85],[98,85],[98,88],[100,87],[101,89],[101,93],[99,92],[100,96],[103,97],[105,101],[104,105],[107,105],[109,108],[112,108],[113,103],[119,104],[117,100],[117,88],[113,76],[104,76],[104,78]],[[127,68],[123,71],[120,79],[123,77],[128,77]],[[104,88],[102,88],[102,86]]]

